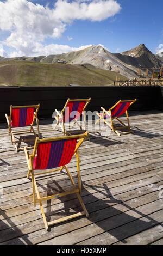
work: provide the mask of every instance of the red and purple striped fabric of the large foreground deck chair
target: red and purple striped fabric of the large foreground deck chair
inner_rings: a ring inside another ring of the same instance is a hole
[[[34,170],[52,169],[68,164],[76,149],[77,139],[39,143],[37,156],[33,161]]]

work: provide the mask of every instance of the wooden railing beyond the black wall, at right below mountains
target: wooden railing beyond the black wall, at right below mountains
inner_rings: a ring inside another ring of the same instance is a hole
[[[130,79],[114,81],[114,86],[163,86],[163,80],[153,79]]]

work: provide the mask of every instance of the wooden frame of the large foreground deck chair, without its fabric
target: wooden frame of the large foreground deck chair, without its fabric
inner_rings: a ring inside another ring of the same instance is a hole
[[[45,228],[46,230],[48,230],[48,227],[57,223],[61,223],[67,220],[71,220],[72,218],[76,218],[82,215],[86,215],[86,217],[89,217],[89,214],[85,208],[85,205],[83,203],[82,197],[80,196],[80,194],[82,193],[82,182],[81,182],[81,176],[80,176],[80,160],[79,160],[79,152],[78,149],[80,147],[80,145],[82,145],[82,143],[84,142],[85,138],[88,136],[88,132],[85,132],[83,135],[71,135],[71,136],[62,136],[62,137],[56,137],[56,138],[47,138],[47,139],[39,139],[38,137],[35,140],[35,145],[34,145],[34,149],[33,149],[33,154],[29,155],[29,152],[27,151],[27,148],[24,147],[24,152],[26,155],[26,160],[27,160],[27,165],[28,165],[28,173],[27,173],[27,178],[29,178],[29,176],[32,176],[32,190],[33,190],[33,203],[34,206],[36,206],[36,203],[40,204],[40,209],[41,209],[41,214],[42,214],[42,218],[43,218],[43,222],[45,224]],[[79,142],[76,145],[76,149],[74,150],[74,154],[76,155],[76,160],[77,160],[77,174],[78,174],[78,187],[76,187],[76,184],[68,170],[68,167],[65,166],[61,166],[59,169],[54,169],[54,170],[47,170],[47,171],[42,171],[40,173],[36,173],[34,174],[34,169],[33,169],[33,160],[34,157],[36,155],[36,151],[37,151],[37,146],[40,142],[51,142],[51,141],[58,141],[58,140],[62,140],[62,139],[73,139],[73,138],[77,138],[79,139]],[[47,196],[47,197],[40,197],[40,193],[39,190],[37,188],[37,184],[36,184],[36,180],[35,180],[35,176],[36,175],[40,175],[40,174],[45,174],[45,173],[52,173],[52,172],[57,172],[57,171],[61,171],[62,169],[66,170],[67,175],[71,181],[71,184],[73,186],[73,190],[72,191],[67,191],[67,192],[62,192],[62,193],[57,193],[57,194],[53,194],[52,196]],[[36,198],[36,195],[37,198]],[[76,193],[78,200],[80,202],[80,205],[83,208],[82,212],[78,212],[77,214],[72,214],[70,216],[66,216],[66,217],[62,217],[59,218],[58,220],[55,221],[50,221],[47,222],[46,220],[46,216],[45,216],[45,212],[43,210],[43,206],[42,206],[42,201],[45,200],[51,200],[51,199],[57,199],[58,197],[62,197],[62,196],[66,196],[68,194],[73,194]]]

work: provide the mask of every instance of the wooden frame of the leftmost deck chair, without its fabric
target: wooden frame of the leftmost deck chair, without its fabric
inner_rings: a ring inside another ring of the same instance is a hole
[[[12,126],[11,126],[11,118],[12,118],[12,109],[14,108],[36,108],[36,111],[34,112],[34,117],[33,117],[33,121],[32,121],[32,124],[30,124],[30,129],[28,130],[20,130],[20,131],[12,131]],[[20,134],[20,133],[27,133],[27,132],[33,132],[35,135],[35,130],[33,128],[33,125],[34,125],[34,121],[36,120],[36,125],[37,125],[37,134],[40,138],[40,130],[39,130],[39,119],[37,118],[37,113],[39,111],[39,108],[40,108],[40,104],[38,105],[30,105],[30,106],[10,106],[10,115],[8,116],[7,114],[5,114],[5,118],[7,119],[7,124],[8,124],[8,127],[9,127],[9,135],[11,136],[11,143],[12,145],[15,145],[15,149],[16,151],[18,152],[19,150],[24,150],[24,147],[23,148],[18,148],[16,143],[21,143],[21,142],[32,142],[33,139],[24,139],[24,140],[17,140],[15,141],[15,138],[14,138],[14,135],[15,134]],[[31,146],[31,147],[27,147],[27,149],[33,149],[34,146]]]

